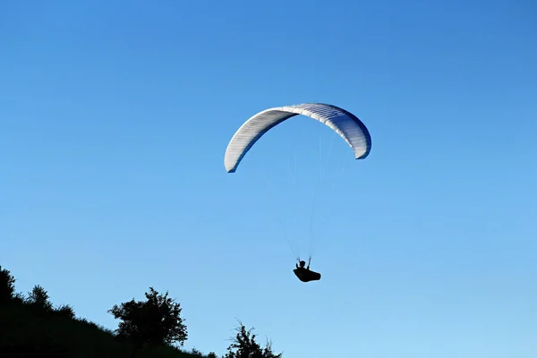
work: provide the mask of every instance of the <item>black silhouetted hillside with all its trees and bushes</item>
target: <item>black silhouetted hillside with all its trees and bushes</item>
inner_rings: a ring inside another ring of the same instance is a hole
[[[182,349],[188,339],[179,303],[152,287],[145,301],[115,304],[108,313],[120,320],[115,330],[76,317],[69,305],[54,306],[47,290],[34,286],[29,294],[15,291],[15,278],[0,266],[0,358],[129,357],[217,358],[196,349]],[[262,347],[243,323],[223,358],[281,358],[270,342]]]

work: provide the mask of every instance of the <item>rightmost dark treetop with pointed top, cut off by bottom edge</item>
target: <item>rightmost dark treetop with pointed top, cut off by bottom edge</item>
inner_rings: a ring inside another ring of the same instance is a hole
[[[237,334],[233,343],[227,347],[227,353],[224,358],[281,358],[282,354],[272,352],[272,343],[267,341],[265,347],[261,348],[260,344],[255,341],[256,335],[252,335],[253,328],[246,330],[243,323],[236,328]]]

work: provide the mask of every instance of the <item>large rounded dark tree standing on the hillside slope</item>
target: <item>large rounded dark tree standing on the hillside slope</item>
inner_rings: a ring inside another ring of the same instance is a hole
[[[138,346],[183,345],[188,336],[180,304],[169,298],[167,292],[158,294],[153,287],[149,287],[145,296],[145,302],[132,299],[108,311],[116,320],[122,320],[115,330],[118,337],[132,340]]]

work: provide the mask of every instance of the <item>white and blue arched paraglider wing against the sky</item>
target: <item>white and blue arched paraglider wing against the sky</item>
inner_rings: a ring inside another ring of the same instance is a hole
[[[307,115],[337,132],[354,150],[356,159],[366,158],[371,150],[371,136],[362,121],[345,109],[322,104],[274,107],[248,119],[229,142],[224,164],[227,173],[234,173],[241,160],[261,136],[294,115]]]

